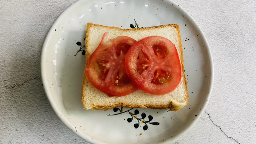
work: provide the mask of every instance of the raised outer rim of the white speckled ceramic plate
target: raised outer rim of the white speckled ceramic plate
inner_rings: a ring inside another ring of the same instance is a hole
[[[73,3],[72,5],[70,5],[67,9],[65,9],[59,16],[58,18],[55,20],[55,22],[53,23],[52,27],[50,28],[50,30],[48,31],[48,34],[44,40],[44,43],[43,43],[43,47],[42,47],[42,52],[41,52],[41,62],[40,62],[40,71],[41,71],[41,80],[42,80],[42,83],[43,83],[43,87],[44,87],[44,91],[46,93],[46,97],[48,99],[48,101],[50,102],[51,104],[51,107],[53,108],[53,111],[54,113],[58,116],[58,118],[61,120],[61,122],[69,129],[71,130],[74,134],[78,135],[79,137],[81,137],[83,140],[86,140],[88,142],[91,142],[91,143],[99,143],[99,144],[102,144],[102,143],[105,143],[103,141],[100,141],[100,140],[97,140],[97,139],[93,139],[93,137],[87,135],[87,134],[83,134],[82,132],[80,131],[77,131],[75,132],[73,129],[73,124],[67,120],[66,118],[62,117],[61,116],[61,111],[58,109],[58,107],[56,105],[54,105],[54,100],[52,98],[52,94],[50,93],[50,88],[47,87],[47,78],[46,78],[46,74],[44,72],[44,69],[45,69],[45,59],[46,59],[46,50],[47,50],[47,45],[48,45],[48,42],[50,40],[50,37],[56,27],[56,25],[59,23],[59,21],[62,19],[63,15],[65,15],[70,9],[72,9],[77,3],[80,3],[81,1],[83,0],[78,0],[76,1],[75,3]],[[88,1],[88,0],[87,0]],[[172,0],[166,0],[168,1],[168,3],[173,3],[174,5],[178,6],[179,7],[179,10],[181,12],[183,12],[184,14],[186,14],[187,18],[189,18],[191,21],[192,21],[192,24],[197,26],[197,29],[198,29],[198,32],[202,35],[202,39],[204,41],[204,43],[206,44],[206,49],[208,50],[208,57],[209,57],[209,61],[210,61],[210,69],[211,69],[211,75],[210,75],[210,79],[209,79],[209,92],[205,95],[205,98],[207,99],[207,101],[203,104],[202,106],[202,109],[201,111],[199,112],[199,116],[202,115],[202,113],[204,112],[206,106],[208,105],[208,102],[209,102],[209,98],[210,98],[210,95],[212,93],[212,89],[213,89],[213,81],[214,81],[214,65],[213,65],[213,58],[212,58],[212,54],[211,54],[211,50],[210,50],[210,46],[209,46],[209,43],[203,33],[203,31],[201,30],[200,26],[195,22],[195,20],[189,15],[189,13],[187,11],[185,11],[180,5],[178,5],[177,3],[173,2]],[[91,1],[89,1],[91,2]],[[169,143],[169,142],[174,142],[176,140],[178,140],[179,138],[181,138],[181,136],[185,133],[187,133],[196,123],[198,122],[198,118],[195,119],[194,121],[191,122],[190,125],[188,125],[183,131],[181,131],[181,133],[175,135],[173,138],[167,138],[163,143]]]

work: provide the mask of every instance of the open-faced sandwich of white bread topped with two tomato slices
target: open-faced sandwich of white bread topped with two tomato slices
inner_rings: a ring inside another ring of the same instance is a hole
[[[119,29],[88,23],[85,48],[84,109],[122,106],[177,112],[187,104],[177,24]]]

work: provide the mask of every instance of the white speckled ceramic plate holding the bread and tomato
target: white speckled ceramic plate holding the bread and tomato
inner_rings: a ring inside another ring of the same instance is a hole
[[[174,23],[180,26],[188,104],[176,113],[167,109],[123,108],[127,112],[118,114],[121,107],[108,111],[84,110],[81,84],[85,56],[82,51],[75,54],[80,45],[84,50],[86,24],[92,22],[127,29],[135,26],[135,20],[139,27]],[[213,84],[212,57],[202,31],[179,5],[165,0],[75,2],[59,16],[45,39],[41,73],[45,92],[55,113],[71,131],[92,143],[156,144],[175,141],[201,116]],[[149,115],[153,118],[150,122],[154,123],[141,123],[139,118],[146,116],[144,119],[148,121]],[[132,121],[128,122],[130,117]]]

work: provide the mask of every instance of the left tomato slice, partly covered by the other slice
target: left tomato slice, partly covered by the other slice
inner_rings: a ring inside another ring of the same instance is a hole
[[[99,46],[87,62],[86,75],[91,84],[109,96],[124,96],[137,90],[128,77],[124,60],[127,51],[136,40],[118,36],[104,42],[104,33]]]

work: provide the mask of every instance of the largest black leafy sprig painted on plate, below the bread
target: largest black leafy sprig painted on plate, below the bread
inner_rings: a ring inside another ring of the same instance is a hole
[[[152,115],[148,115],[148,120],[146,121],[146,113],[141,113],[141,115],[139,116],[139,110],[134,110],[134,113],[132,112],[133,108],[127,110],[127,111],[123,111],[123,107],[119,108],[114,108],[113,111],[114,112],[118,112],[116,114],[110,114],[110,115],[118,115],[118,114],[122,114],[122,113],[129,113],[131,117],[127,118],[127,121],[130,123],[133,121],[133,119],[136,119],[138,121],[138,123],[135,123],[133,126],[135,129],[137,129],[139,127],[139,124],[142,123],[144,124],[143,126],[143,130],[146,131],[148,129],[148,124],[152,124],[152,125],[160,125],[159,122],[151,122],[153,120],[153,116]]]

